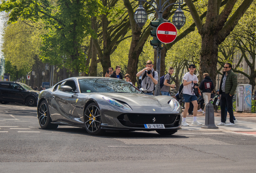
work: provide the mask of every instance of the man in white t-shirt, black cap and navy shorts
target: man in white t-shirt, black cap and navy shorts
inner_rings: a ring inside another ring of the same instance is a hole
[[[184,109],[184,113],[183,113],[182,126],[189,126],[188,123],[186,123],[186,117],[187,117],[188,109],[190,107],[190,105],[189,105],[190,101],[194,105],[192,125],[202,125],[202,123],[199,123],[196,120],[198,104],[197,104],[197,97],[196,97],[195,91],[193,89],[195,84],[198,82],[198,78],[194,74],[194,71],[196,70],[196,66],[194,64],[190,64],[188,66],[188,69],[189,69],[189,72],[187,72],[183,77],[182,92],[179,91],[179,93],[183,93],[183,98],[185,100],[185,109]]]

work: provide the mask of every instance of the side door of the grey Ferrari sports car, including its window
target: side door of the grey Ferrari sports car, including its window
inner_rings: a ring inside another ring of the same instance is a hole
[[[70,86],[74,92],[66,92],[61,90],[61,86]],[[54,105],[60,113],[61,117],[52,118],[53,121],[66,121],[68,123],[80,123],[81,119],[78,115],[76,104],[78,95],[76,94],[77,85],[75,80],[66,80],[62,82],[53,93]],[[83,123],[83,122],[81,122]]]

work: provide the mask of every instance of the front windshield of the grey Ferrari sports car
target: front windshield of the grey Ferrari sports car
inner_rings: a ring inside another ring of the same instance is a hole
[[[142,93],[132,84],[114,78],[78,79],[81,93]]]

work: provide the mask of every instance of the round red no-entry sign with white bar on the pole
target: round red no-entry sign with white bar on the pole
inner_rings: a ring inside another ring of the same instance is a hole
[[[163,43],[171,43],[177,37],[177,29],[170,22],[161,23],[157,27],[157,38]]]

